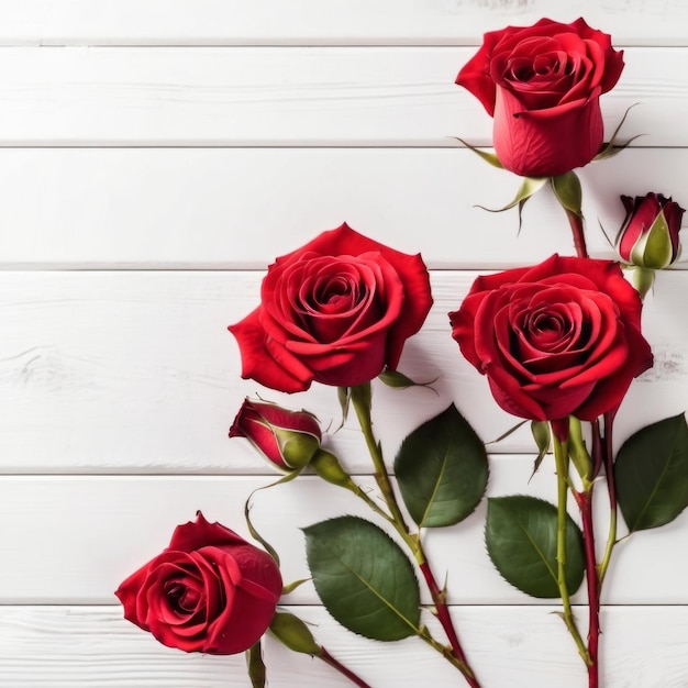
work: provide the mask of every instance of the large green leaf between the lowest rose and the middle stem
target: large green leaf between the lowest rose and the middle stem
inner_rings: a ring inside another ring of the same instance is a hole
[[[315,523],[303,532],[315,590],[339,623],[378,641],[419,633],[418,580],[387,533],[352,515]]]

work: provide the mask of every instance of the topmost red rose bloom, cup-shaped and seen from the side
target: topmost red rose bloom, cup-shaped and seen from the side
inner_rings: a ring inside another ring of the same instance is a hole
[[[485,34],[458,73],[495,118],[493,144],[517,175],[553,177],[587,165],[603,140],[599,97],[619,80],[623,51],[582,19]]]

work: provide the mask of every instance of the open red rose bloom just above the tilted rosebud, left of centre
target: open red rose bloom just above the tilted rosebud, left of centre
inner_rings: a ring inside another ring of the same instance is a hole
[[[346,224],[269,266],[260,306],[231,325],[242,377],[280,391],[353,387],[393,370],[432,306],[428,269]]]

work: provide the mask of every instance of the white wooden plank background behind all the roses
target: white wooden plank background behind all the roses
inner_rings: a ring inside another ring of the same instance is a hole
[[[632,149],[585,168],[593,255],[610,256],[620,193],[688,203],[688,5],[683,0],[0,1],[0,686],[248,685],[243,656],[185,655],[123,621],[119,582],[202,509],[245,533],[248,492],[273,476],[226,437],[245,395],[337,418],[334,390],[285,399],[238,378],[226,325],[257,303],[268,263],[347,221],[422,252],[435,307],[401,369],[425,389],[375,389],[388,456],[451,400],[481,436],[513,424],[458,354],[446,312],[481,270],[573,253],[546,193],[513,213],[517,180],[462,148],[490,120],[454,86],[487,30],[584,15],[626,68],[604,97]],[[688,274],[659,276],[644,313],[655,367],[634,382],[618,441],[688,406]],[[336,422],[336,421],[334,421]],[[354,425],[334,446],[369,482]],[[491,445],[489,493],[553,496],[532,442]],[[255,521],[306,574],[299,528],[360,512],[312,478],[263,492]],[[556,604],[501,581],[481,507],[429,534],[486,688],[578,688]],[[606,688],[688,687],[688,514],[620,545],[602,613]],[[439,577],[443,574],[440,573]],[[580,596],[575,598],[581,602]],[[376,687],[459,686],[414,640],[336,626],[311,587],[290,597],[329,650]],[[585,619],[582,607],[577,608]],[[335,687],[328,667],[266,644],[271,687]]]

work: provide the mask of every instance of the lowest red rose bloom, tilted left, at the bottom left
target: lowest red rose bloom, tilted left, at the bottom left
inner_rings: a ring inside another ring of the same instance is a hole
[[[196,522],[178,525],[169,546],[115,595],[124,618],[163,645],[232,655],[265,633],[281,587],[268,554],[199,512]]]

